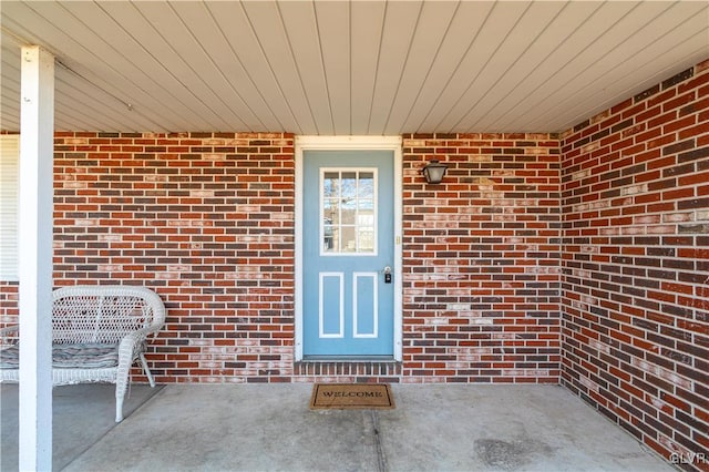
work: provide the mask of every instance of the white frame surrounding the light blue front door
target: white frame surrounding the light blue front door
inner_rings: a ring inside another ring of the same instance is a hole
[[[392,151],[393,152],[393,212],[394,212],[394,360],[402,359],[402,153],[401,136],[296,136],[296,361],[302,360],[302,153],[310,150],[332,151]]]

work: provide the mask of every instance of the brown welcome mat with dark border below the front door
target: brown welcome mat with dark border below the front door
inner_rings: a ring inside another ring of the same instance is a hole
[[[312,409],[390,409],[394,397],[387,383],[316,383]]]

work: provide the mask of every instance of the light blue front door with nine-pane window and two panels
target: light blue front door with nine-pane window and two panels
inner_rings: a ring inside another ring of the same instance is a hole
[[[393,153],[306,151],[304,357],[391,357]]]

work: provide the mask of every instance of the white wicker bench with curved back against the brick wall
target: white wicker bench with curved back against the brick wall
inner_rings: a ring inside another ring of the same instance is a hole
[[[54,386],[115,383],[115,421],[123,420],[129,372],[145,361],[147,337],[165,324],[165,305],[154,291],[132,286],[74,286],[54,290],[52,380]],[[18,327],[0,330],[0,382],[19,381]]]

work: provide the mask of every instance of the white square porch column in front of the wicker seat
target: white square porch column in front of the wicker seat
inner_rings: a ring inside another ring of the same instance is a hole
[[[22,48],[20,84],[20,471],[52,469],[54,57]]]

